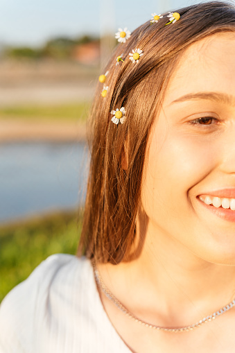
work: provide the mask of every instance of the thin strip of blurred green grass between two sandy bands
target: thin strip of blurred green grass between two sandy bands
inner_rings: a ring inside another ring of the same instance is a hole
[[[0,107],[0,119],[31,120],[80,120],[85,121],[90,103],[67,103],[60,105],[14,105]]]

